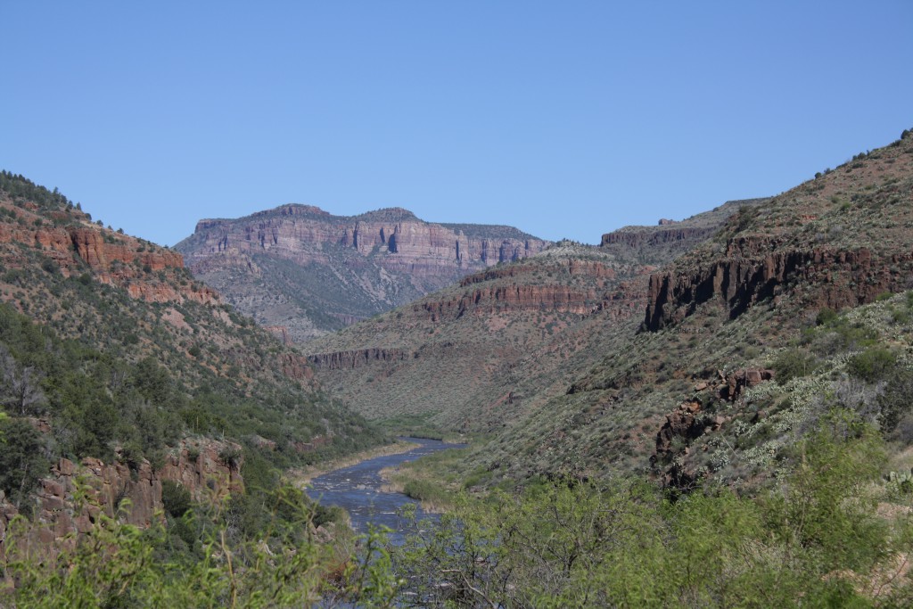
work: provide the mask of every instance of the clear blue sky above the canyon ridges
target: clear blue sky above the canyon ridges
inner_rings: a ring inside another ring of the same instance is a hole
[[[0,5],[0,168],[173,245],[304,203],[596,243],[913,127],[913,2]]]

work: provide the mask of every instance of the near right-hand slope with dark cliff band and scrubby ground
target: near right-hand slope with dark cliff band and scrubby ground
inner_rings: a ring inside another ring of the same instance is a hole
[[[652,471],[761,483],[834,407],[892,432],[913,352],[913,137],[746,206],[651,275],[639,332],[470,463],[494,478]],[[838,317],[834,310],[847,310]],[[875,371],[875,372],[873,372]],[[892,405],[893,404],[893,405]],[[900,437],[898,452],[913,436]]]

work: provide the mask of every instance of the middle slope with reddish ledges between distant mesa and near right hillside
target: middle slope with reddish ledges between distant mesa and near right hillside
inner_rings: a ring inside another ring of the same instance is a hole
[[[320,382],[374,418],[418,417],[490,431],[561,394],[600,357],[606,336],[634,332],[647,279],[742,205],[677,225],[624,229],[602,247],[562,242],[463,278],[390,313],[306,345]],[[656,249],[649,244],[657,245]]]

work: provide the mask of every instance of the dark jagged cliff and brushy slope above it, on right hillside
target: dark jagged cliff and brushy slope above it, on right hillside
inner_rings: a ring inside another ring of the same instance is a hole
[[[908,137],[740,210],[713,247],[650,278],[643,329],[675,324],[707,302],[734,319],[761,300],[839,310],[910,288],[911,174]]]

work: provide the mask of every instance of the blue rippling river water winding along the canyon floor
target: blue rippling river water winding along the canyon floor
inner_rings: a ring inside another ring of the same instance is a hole
[[[415,499],[403,493],[383,492],[381,470],[384,467],[395,467],[401,463],[415,461],[439,450],[461,448],[463,444],[446,444],[440,440],[423,438],[402,438],[418,444],[417,448],[400,455],[387,455],[367,459],[352,467],[333,470],[310,481],[308,495],[325,506],[340,506],[352,517],[352,528],[359,533],[367,532],[368,523],[375,526],[386,526],[394,530],[393,538],[404,534],[404,522],[399,518],[400,509],[408,503],[415,504],[416,514],[421,520],[428,514],[418,505]]]

